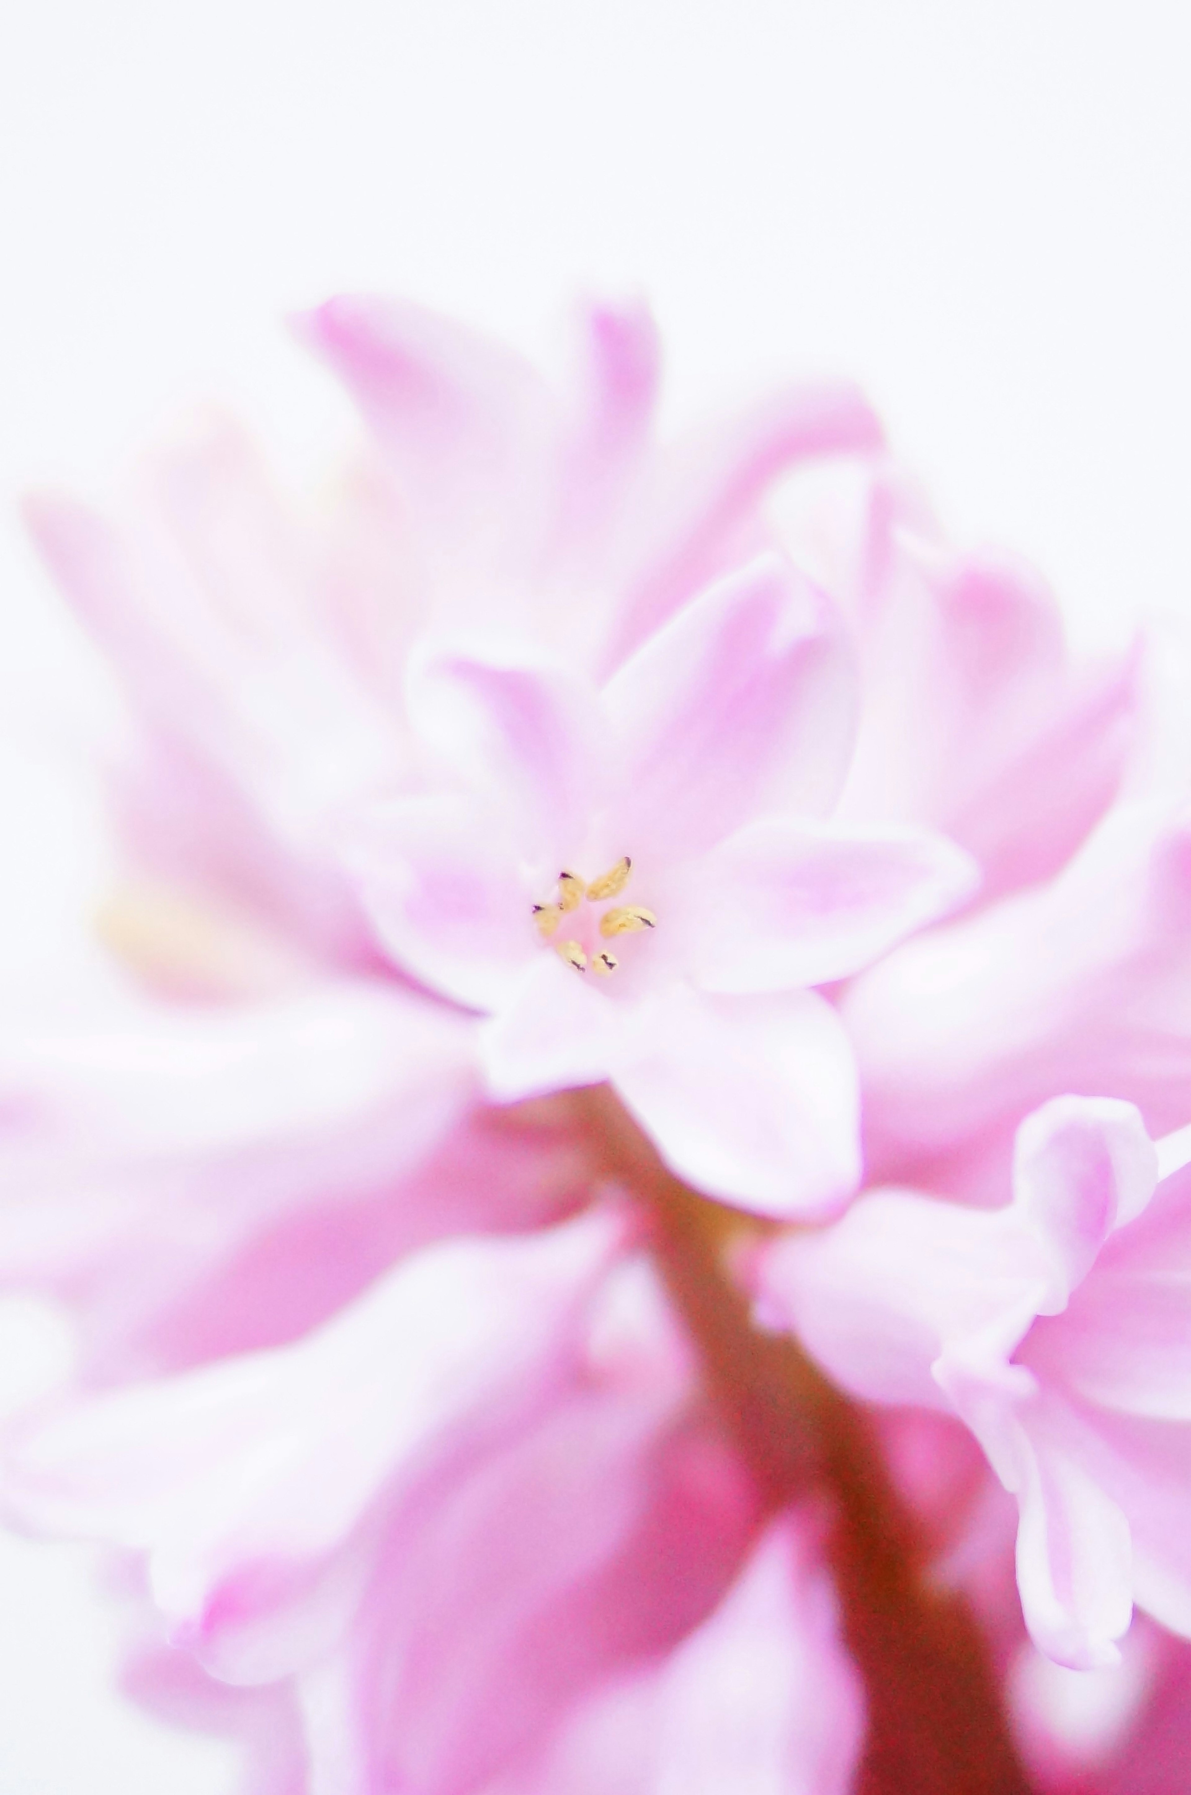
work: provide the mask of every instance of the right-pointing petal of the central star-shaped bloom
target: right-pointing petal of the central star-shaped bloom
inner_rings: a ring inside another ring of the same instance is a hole
[[[782,991],[859,971],[954,908],[979,869],[938,835],[762,819],[712,849],[687,890],[709,991]]]

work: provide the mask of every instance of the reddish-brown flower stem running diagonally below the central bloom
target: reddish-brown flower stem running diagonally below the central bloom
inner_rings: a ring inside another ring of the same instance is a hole
[[[818,1497],[868,1734],[856,1795],[1030,1795],[994,1664],[927,1553],[875,1431],[789,1339],[759,1332],[726,1273],[741,1217],[673,1176],[613,1093],[576,1093],[610,1178],[653,1219],[660,1269],[707,1386],[769,1510]]]

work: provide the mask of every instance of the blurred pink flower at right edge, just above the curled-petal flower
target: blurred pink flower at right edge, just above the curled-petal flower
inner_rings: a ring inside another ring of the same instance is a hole
[[[1186,801],[1116,804],[1055,878],[906,942],[843,1000],[877,1178],[979,1194],[1056,1090],[1186,1116]],[[972,1172],[970,1167],[976,1165]]]

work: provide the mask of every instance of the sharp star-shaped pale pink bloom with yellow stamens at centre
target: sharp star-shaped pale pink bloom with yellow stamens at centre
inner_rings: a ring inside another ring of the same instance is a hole
[[[773,1215],[856,1186],[847,1036],[809,987],[969,896],[970,858],[825,819],[852,740],[838,616],[777,555],[707,587],[603,686],[427,650],[434,772],[352,858],[380,941],[486,1012],[497,1100],[612,1081],[667,1161]]]

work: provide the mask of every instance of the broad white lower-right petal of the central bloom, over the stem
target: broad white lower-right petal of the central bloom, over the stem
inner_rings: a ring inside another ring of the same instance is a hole
[[[777,1217],[822,1215],[852,1194],[857,1090],[829,1003],[676,985],[624,1014],[612,1082],[680,1178]]]

